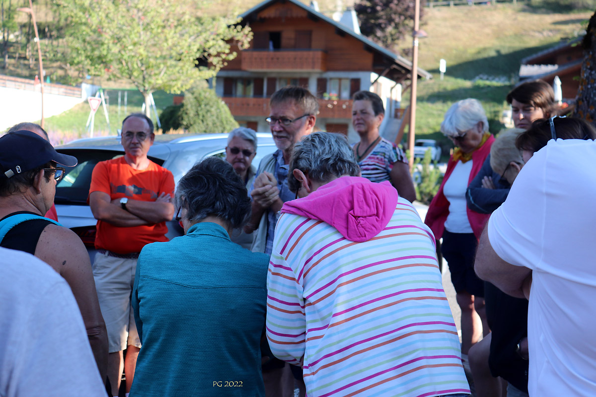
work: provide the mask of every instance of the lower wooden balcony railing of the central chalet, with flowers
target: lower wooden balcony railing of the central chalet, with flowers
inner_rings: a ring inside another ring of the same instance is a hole
[[[234,117],[269,115],[269,98],[231,98],[224,97],[222,101],[228,105]],[[319,99],[319,118],[352,118],[352,101],[338,99],[337,101]]]

